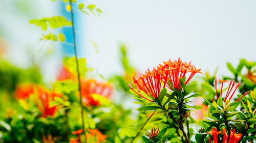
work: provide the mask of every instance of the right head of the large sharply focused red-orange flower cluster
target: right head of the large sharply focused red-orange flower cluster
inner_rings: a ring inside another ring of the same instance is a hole
[[[170,82],[173,83],[173,87],[177,90],[181,88],[180,78],[186,76],[187,73],[190,73],[190,75],[186,79],[185,84],[187,84],[196,73],[202,73],[200,72],[201,69],[196,69],[194,65],[191,65],[191,61],[189,63],[182,62],[180,58],[178,61],[169,60],[168,62],[163,62],[163,65],[159,64],[158,69],[164,72],[164,79],[170,80]],[[166,84],[166,86],[172,90],[168,84]]]

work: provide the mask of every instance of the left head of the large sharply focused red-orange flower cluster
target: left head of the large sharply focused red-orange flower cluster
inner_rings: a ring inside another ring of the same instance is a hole
[[[161,89],[165,87],[165,83],[162,83],[163,78],[164,77],[161,70],[157,70],[154,68],[152,71],[150,71],[148,69],[144,74],[141,74],[138,79],[136,77],[133,77],[134,82],[132,82],[131,84],[137,85],[138,92],[133,89],[131,84],[129,84],[129,87],[142,98],[154,102],[153,100],[145,97],[141,93],[141,91],[143,91],[143,93],[145,93],[148,97],[152,95],[153,97],[158,99]]]

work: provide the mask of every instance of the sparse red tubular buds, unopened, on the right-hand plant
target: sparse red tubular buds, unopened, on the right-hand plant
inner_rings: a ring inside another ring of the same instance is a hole
[[[221,82],[221,95],[222,95],[222,88],[223,88],[223,83],[225,83],[225,82],[229,82],[229,87],[228,87],[228,90],[227,90],[227,94],[226,94],[226,96],[225,96],[225,99],[224,99],[224,102],[227,100],[227,98],[228,98],[228,96],[229,96],[229,94],[231,93],[231,90],[233,89],[233,87],[234,87],[234,80],[232,80],[231,79],[231,81],[228,81],[228,80],[222,80],[222,79],[218,79],[217,80],[217,78],[215,79],[215,90],[216,90],[216,97],[217,97],[217,100],[218,100],[218,94],[217,94],[217,81],[219,81],[219,82]],[[233,90],[233,92],[232,92],[232,94],[231,94],[231,96],[229,97],[229,100],[231,100],[232,99],[232,97],[233,97],[233,95],[234,95],[234,92],[236,92],[236,90],[238,89],[238,87],[239,87],[239,85],[240,85],[240,83],[241,82],[239,82],[239,83],[237,83],[236,84],[236,87],[234,88],[234,90]],[[232,86],[231,86],[231,84],[232,84]],[[231,87],[231,88],[230,88]],[[235,102],[237,102],[237,101],[239,101],[242,97],[244,97],[245,95],[247,95],[249,93],[249,91],[248,92],[246,92],[246,93],[244,93],[243,94],[243,96],[241,96],[238,100],[236,100]],[[221,97],[221,95],[220,95],[220,97]]]

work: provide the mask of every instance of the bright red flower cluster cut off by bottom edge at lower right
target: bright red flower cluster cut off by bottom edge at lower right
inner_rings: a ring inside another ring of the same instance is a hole
[[[217,131],[216,128],[212,128],[211,132],[207,132],[208,134],[211,134],[214,138],[214,143],[218,143],[218,134],[222,133],[222,131]],[[233,129],[233,131],[230,131],[229,140],[228,135],[226,133],[226,129],[223,129],[223,143],[238,143],[242,137],[241,133],[236,133],[236,131]],[[208,137],[209,142],[211,143],[210,138]]]

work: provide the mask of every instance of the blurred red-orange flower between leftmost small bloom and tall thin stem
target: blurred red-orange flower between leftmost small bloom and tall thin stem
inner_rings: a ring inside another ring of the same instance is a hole
[[[55,91],[48,91],[44,87],[36,86],[34,89],[34,102],[44,118],[54,116],[56,106],[50,107],[50,102],[54,101],[54,97],[61,97],[62,94],[56,94]]]

